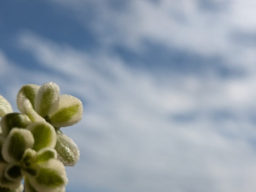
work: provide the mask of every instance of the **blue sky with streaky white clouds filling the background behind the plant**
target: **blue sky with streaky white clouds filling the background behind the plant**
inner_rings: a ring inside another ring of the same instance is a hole
[[[84,104],[67,191],[255,191],[254,1],[0,5],[0,94],[17,111],[53,81]]]

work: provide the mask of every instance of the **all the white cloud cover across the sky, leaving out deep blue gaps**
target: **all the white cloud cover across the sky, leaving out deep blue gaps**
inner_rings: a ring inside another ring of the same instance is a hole
[[[255,31],[254,1],[212,1],[223,3],[217,12],[200,9],[196,0],[126,1],[122,11],[110,8],[109,1],[55,2],[75,10],[68,13],[91,27],[103,48],[88,54],[24,32],[21,49],[52,73],[17,67],[0,52],[0,80],[13,105],[22,84],[49,81],[84,101],[82,122],[63,129],[81,149],[81,160],[68,169],[70,188],[255,190],[255,47],[232,39],[237,31]],[[89,22],[87,7],[95,14]],[[115,44],[143,54],[147,38],[203,56],[219,54],[246,75],[220,79],[165,73],[159,80],[154,71],[131,68],[109,54]],[[179,116],[187,120],[180,122]]]

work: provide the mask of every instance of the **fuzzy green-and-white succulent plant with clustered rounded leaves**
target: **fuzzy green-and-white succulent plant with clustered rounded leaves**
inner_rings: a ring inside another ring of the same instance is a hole
[[[65,166],[74,166],[80,151],[60,128],[82,119],[82,102],[50,82],[22,86],[17,105],[21,113],[0,95],[0,191],[65,192]]]

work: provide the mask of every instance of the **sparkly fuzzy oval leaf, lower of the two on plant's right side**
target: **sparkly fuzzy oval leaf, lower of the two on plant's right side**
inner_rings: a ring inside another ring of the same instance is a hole
[[[55,150],[58,153],[58,159],[65,166],[74,166],[80,158],[80,151],[76,143],[65,134],[57,134]]]

